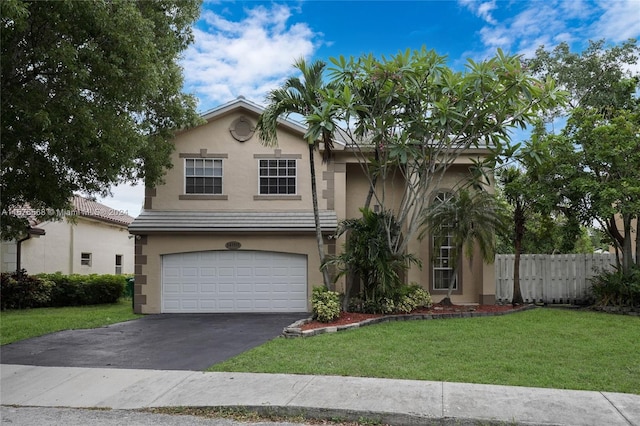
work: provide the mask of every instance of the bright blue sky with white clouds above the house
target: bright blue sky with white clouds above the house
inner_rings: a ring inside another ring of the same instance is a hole
[[[640,37],[640,0],[205,0],[194,35],[181,61],[184,89],[205,112],[240,95],[264,104],[299,57],[328,62],[426,46],[463,69],[467,58],[498,48],[531,57],[540,45],[567,42],[579,52],[590,39],[618,44]],[[138,215],[142,185],[113,192],[101,202]]]

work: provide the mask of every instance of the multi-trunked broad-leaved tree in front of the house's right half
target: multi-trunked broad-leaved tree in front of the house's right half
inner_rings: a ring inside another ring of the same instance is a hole
[[[469,60],[465,72],[451,70],[445,57],[425,48],[382,60],[331,61],[332,81],[341,86],[331,102],[346,123],[348,148],[375,203],[392,212],[404,233],[391,238],[388,222],[394,253],[406,252],[431,191],[460,155],[502,153],[510,129],[562,99],[553,81],[533,78],[519,57],[501,51],[486,61]]]

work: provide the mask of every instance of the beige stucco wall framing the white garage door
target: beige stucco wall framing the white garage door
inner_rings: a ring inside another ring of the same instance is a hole
[[[137,266],[135,281],[136,312],[156,314],[162,307],[162,256],[165,254],[227,250],[229,241],[240,243],[241,250],[275,251],[307,256],[307,295],[322,284],[315,235],[306,234],[157,234],[136,240]],[[308,310],[311,310],[308,303]]]

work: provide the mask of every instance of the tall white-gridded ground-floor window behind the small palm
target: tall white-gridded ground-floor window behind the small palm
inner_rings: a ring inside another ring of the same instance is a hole
[[[434,198],[434,203],[442,203],[449,200],[453,196],[450,192],[439,192]],[[453,224],[444,224],[444,235],[432,235],[431,249],[435,254],[431,265],[432,277],[431,283],[434,290],[447,290],[451,280],[454,279],[455,265],[453,264],[456,257],[456,247],[453,245],[452,230]],[[440,244],[438,244],[440,243]],[[455,277],[453,289],[457,290],[458,277]]]

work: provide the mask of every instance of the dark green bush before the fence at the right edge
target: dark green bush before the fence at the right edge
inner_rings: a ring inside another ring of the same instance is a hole
[[[591,279],[597,306],[640,308],[640,267],[625,273],[621,268],[602,271]]]

